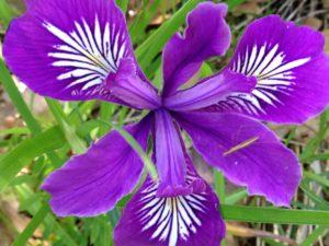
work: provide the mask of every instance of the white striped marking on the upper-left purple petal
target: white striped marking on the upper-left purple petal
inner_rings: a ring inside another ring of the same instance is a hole
[[[43,26],[61,44],[53,46],[48,56],[54,59],[53,67],[66,68],[58,74],[58,81],[70,79],[66,89],[81,84],[81,91],[100,85],[110,72],[116,72],[120,59],[127,55],[124,34],[115,24],[106,23],[102,30],[99,17],[95,16],[92,30],[84,19],[75,22],[75,30],[66,33],[49,22]],[[93,93],[102,93],[101,89]],[[83,92],[84,94],[92,92]],[[72,94],[79,94],[77,90]]]

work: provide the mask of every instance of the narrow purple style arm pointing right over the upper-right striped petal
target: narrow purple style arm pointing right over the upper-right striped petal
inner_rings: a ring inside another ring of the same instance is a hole
[[[172,110],[201,109],[218,103],[235,92],[251,92],[256,85],[254,77],[224,71],[197,83],[195,86],[178,91],[163,101],[163,106]]]

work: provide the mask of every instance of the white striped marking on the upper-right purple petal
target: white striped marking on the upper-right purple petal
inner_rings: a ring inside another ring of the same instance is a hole
[[[280,45],[264,44],[246,48],[237,54],[230,70],[245,75],[257,77],[258,83],[251,94],[234,93],[218,103],[223,109],[237,108],[251,115],[265,114],[262,104],[274,107],[282,105],[280,94],[290,95],[295,84],[294,69],[307,63],[310,57],[286,61],[286,55],[280,51]]]

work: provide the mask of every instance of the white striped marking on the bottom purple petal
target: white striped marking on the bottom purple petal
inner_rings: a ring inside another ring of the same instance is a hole
[[[152,239],[177,246],[179,238],[188,241],[202,225],[196,212],[206,212],[205,194],[158,198],[157,188],[157,184],[150,184],[141,191],[144,196],[139,202],[143,207],[136,212],[143,224],[141,231],[154,230]]]

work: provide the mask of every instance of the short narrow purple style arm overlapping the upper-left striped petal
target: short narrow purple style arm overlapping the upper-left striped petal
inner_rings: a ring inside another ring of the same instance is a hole
[[[156,109],[161,105],[156,89],[137,75],[134,60],[129,58],[121,60],[116,74],[110,74],[106,82],[111,93],[132,107]]]

